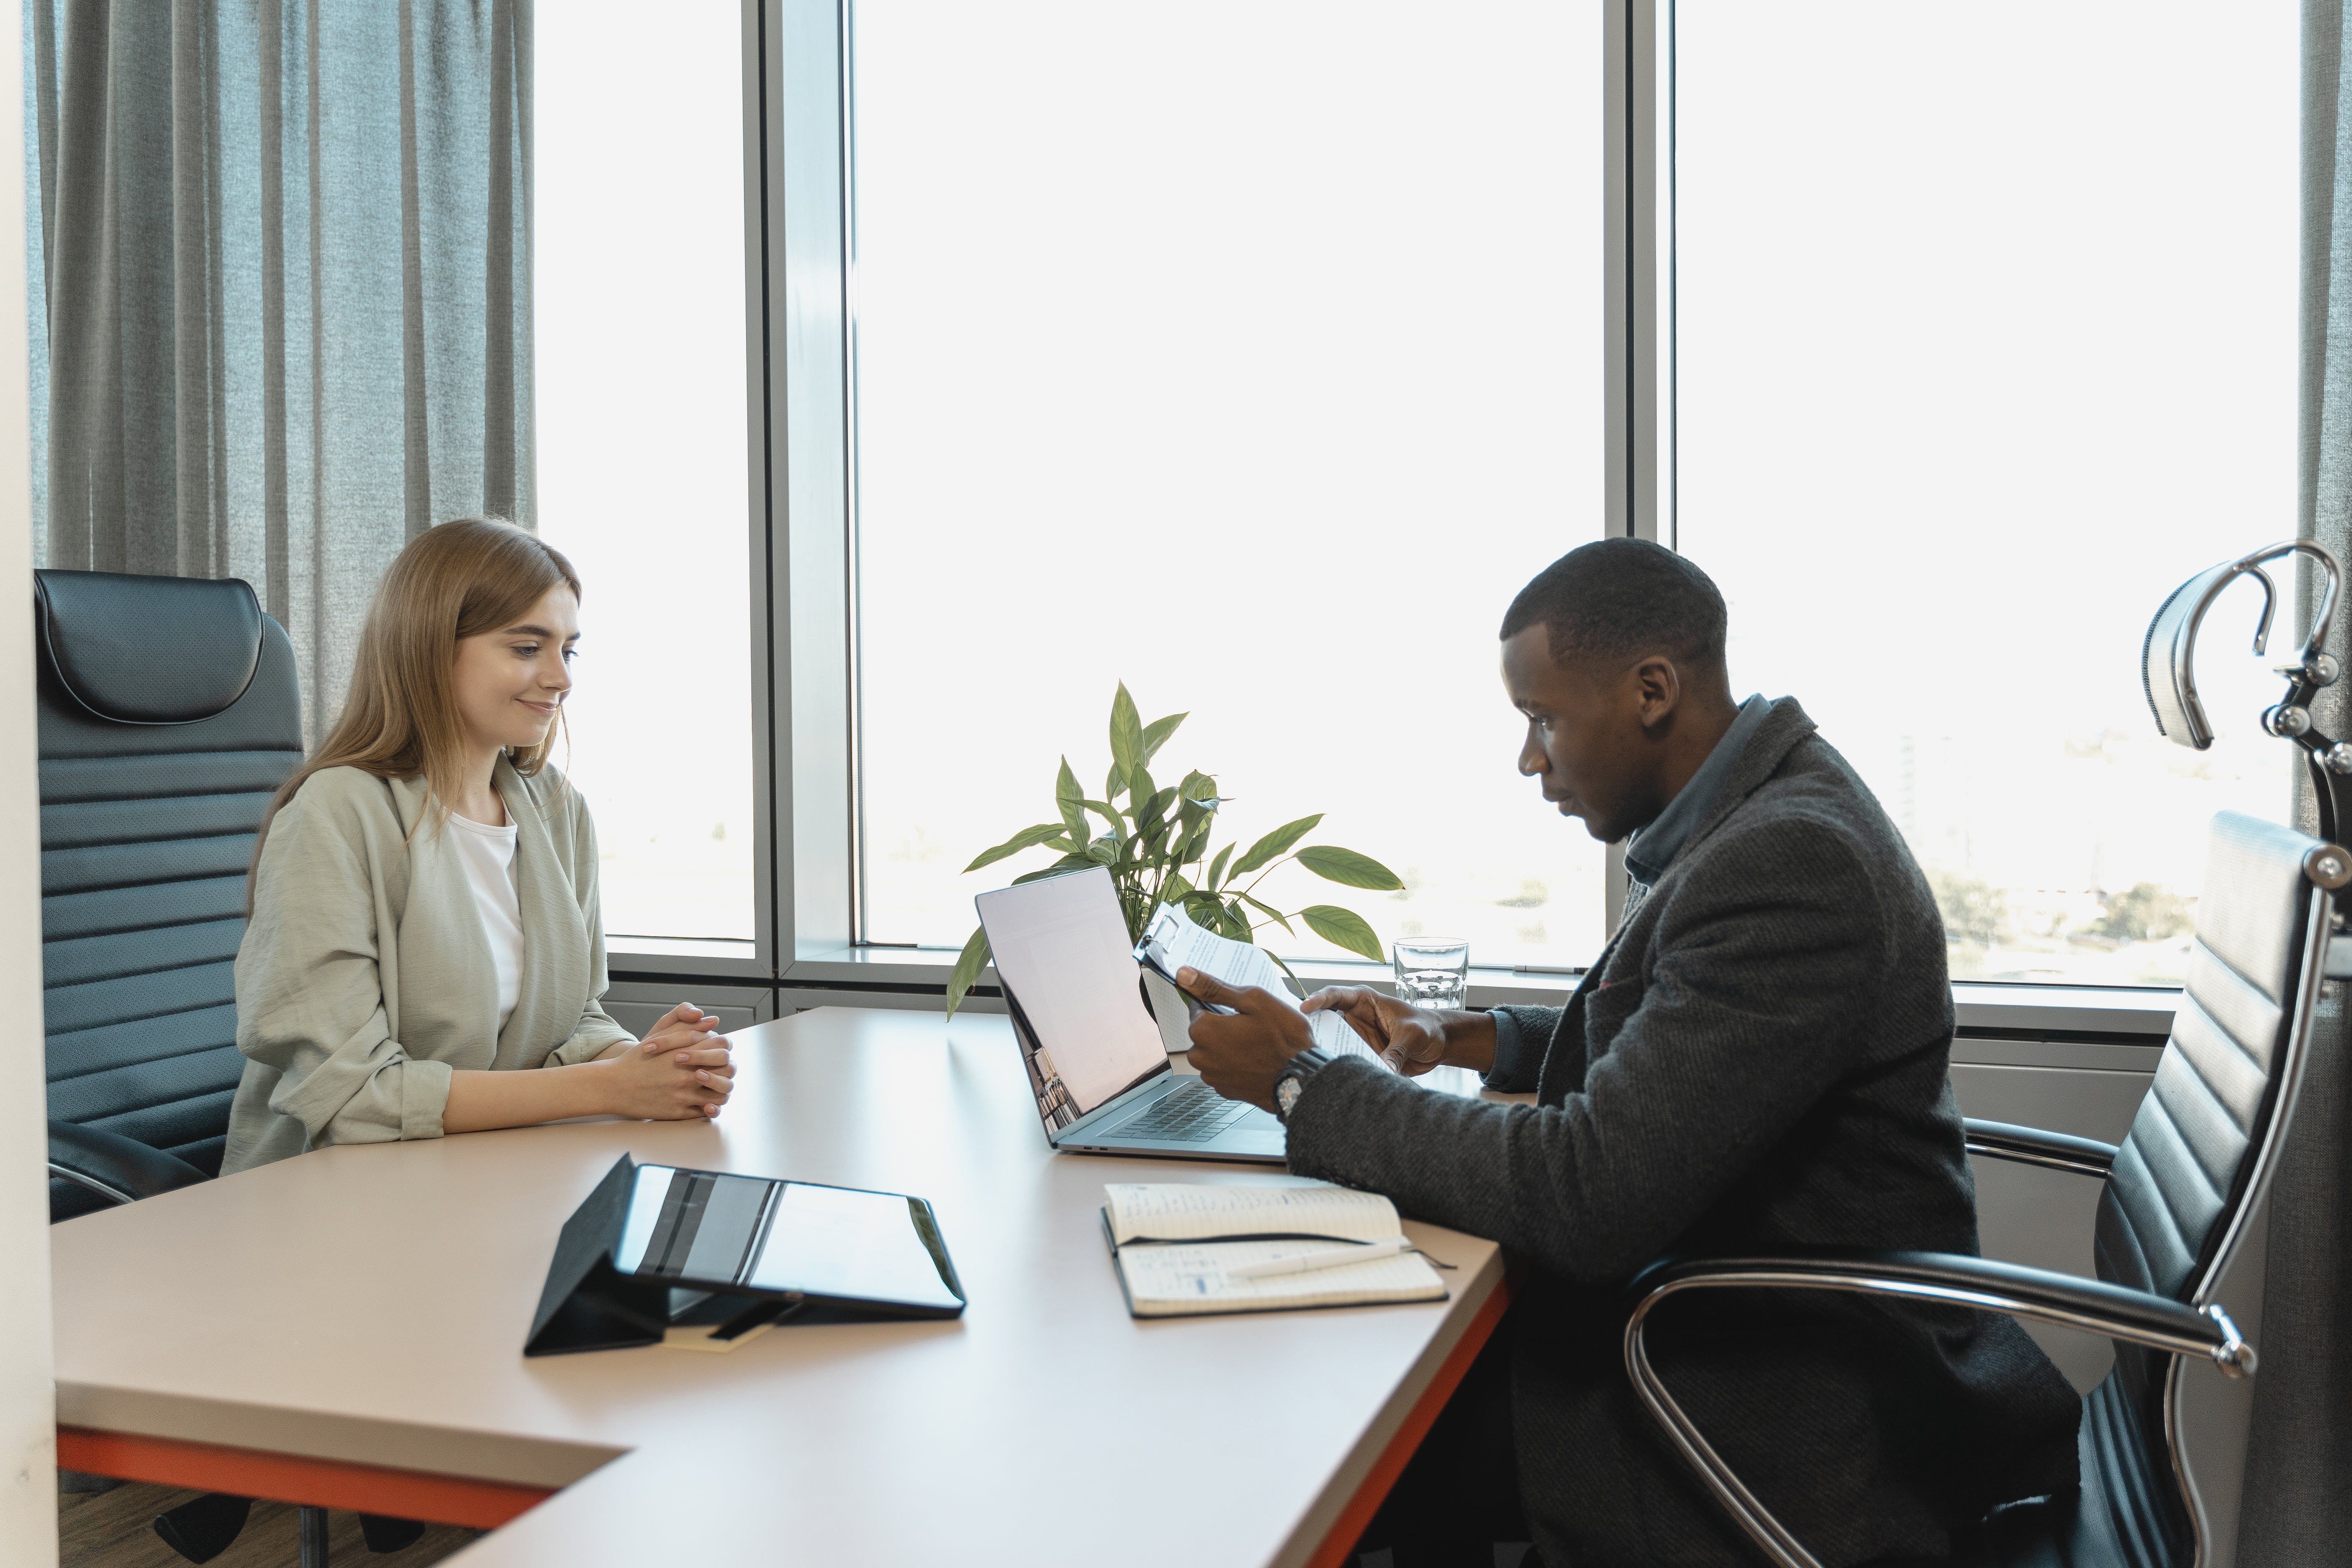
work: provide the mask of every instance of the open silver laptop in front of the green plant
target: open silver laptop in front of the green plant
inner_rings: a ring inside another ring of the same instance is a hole
[[[1282,1164],[1282,1121],[1169,1065],[1103,867],[974,898],[1044,1138],[1080,1154]]]

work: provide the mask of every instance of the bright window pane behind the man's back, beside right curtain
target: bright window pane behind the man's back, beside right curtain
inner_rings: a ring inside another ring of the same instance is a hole
[[[1799,696],[1910,837],[1955,978],[2178,983],[2206,816],[2288,811],[2260,595],[2206,623],[2211,752],[2138,658],[2176,583],[2296,534],[2296,26],[1675,7],[1679,548],[1736,689]]]

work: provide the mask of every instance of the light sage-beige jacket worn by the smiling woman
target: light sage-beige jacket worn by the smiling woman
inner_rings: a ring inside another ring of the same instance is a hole
[[[499,978],[456,846],[421,778],[322,769],[278,811],[238,947],[245,1079],[221,1171],[329,1143],[440,1138],[449,1072],[586,1063],[630,1034],[604,1016],[595,827],[555,769],[506,759],[522,994],[499,1030]]]

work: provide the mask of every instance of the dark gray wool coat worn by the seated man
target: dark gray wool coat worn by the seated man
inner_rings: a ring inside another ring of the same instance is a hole
[[[1748,1568],[1625,1380],[1623,1286],[1665,1253],[1976,1253],[1936,900],[1780,698],[1569,1006],[1512,1013],[1545,1044],[1489,1081],[1536,1105],[1336,1060],[1291,1112],[1291,1168],[1529,1265],[1505,1333],[1545,1561]],[[2009,1319],[1705,1291],[1651,1324],[1668,1387],[1830,1568],[1938,1559],[1987,1507],[2074,1486],[2079,1403]]]

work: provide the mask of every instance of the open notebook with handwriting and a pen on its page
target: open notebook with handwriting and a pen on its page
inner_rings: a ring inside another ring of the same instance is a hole
[[[1112,1182],[1103,1187],[1103,1229],[1134,1316],[1446,1298],[1446,1281],[1411,1251],[1303,1274],[1232,1274],[1242,1265],[1329,1253],[1345,1244],[1399,1241],[1397,1206],[1376,1192]]]

